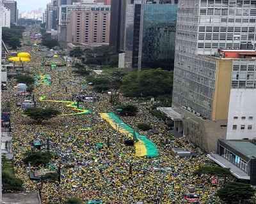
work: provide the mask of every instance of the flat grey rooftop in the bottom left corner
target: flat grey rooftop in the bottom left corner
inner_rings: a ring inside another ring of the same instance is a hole
[[[5,204],[41,204],[38,193],[3,193]]]

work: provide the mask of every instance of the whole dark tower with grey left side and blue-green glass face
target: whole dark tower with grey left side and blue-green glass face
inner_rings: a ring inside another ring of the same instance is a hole
[[[125,13],[124,67],[173,69],[177,1],[131,1]]]

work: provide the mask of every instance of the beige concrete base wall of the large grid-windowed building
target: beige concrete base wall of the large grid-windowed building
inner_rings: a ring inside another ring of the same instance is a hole
[[[203,120],[184,108],[179,108],[179,112],[182,115],[184,136],[207,153],[216,151],[218,138],[226,136],[227,120]]]

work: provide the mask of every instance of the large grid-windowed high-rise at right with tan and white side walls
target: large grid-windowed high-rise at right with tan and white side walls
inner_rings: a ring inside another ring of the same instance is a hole
[[[255,17],[256,1],[179,0],[170,115],[205,152],[255,137]]]

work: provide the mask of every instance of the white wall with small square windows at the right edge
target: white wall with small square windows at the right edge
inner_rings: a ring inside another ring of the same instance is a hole
[[[256,137],[255,102],[255,89],[231,89],[230,105],[228,109],[227,140],[252,139]],[[242,119],[242,117],[245,117],[245,119]],[[249,119],[249,117],[253,118]],[[234,125],[237,126],[237,129],[233,129]],[[242,125],[244,129],[241,129]],[[248,129],[250,125],[252,125],[252,129]]]

